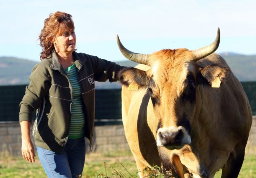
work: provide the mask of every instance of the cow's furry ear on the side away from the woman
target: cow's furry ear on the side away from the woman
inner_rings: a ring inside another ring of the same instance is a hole
[[[199,67],[199,70],[211,86],[213,86],[213,83],[218,83],[218,80],[221,84],[224,84],[228,80],[230,73],[230,69],[227,66],[219,64],[208,65],[204,68]]]

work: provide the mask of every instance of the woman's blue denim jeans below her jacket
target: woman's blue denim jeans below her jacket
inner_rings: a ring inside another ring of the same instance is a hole
[[[85,161],[85,140],[67,139],[61,154],[36,146],[38,157],[49,178],[77,178],[82,176]]]

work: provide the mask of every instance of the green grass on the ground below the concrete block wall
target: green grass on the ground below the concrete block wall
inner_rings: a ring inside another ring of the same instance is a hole
[[[256,178],[256,149],[247,151],[239,178]],[[8,162],[5,162],[7,160]],[[46,178],[43,167],[36,157],[35,163],[29,163],[21,157],[9,157],[0,153],[0,178]],[[139,177],[135,160],[130,151],[86,154],[82,177],[126,178]],[[152,176],[156,177],[156,176]],[[161,176],[163,177],[163,176]],[[221,170],[214,178],[221,177]]]

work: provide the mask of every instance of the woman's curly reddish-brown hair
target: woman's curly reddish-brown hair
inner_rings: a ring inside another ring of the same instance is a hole
[[[42,52],[40,53],[40,60],[47,58],[52,54],[54,49],[53,40],[57,35],[63,33],[66,29],[74,29],[74,22],[72,16],[65,12],[54,12],[49,15],[49,18],[44,21],[44,28],[39,35],[40,46]]]

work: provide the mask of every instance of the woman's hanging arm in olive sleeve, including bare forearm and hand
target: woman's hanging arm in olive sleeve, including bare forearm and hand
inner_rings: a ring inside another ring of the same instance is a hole
[[[29,79],[30,83],[26,87],[25,95],[20,103],[21,152],[24,159],[35,162],[34,146],[30,138],[30,126],[34,110],[40,107],[49,90],[51,77],[44,65],[37,64],[33,68]]]

